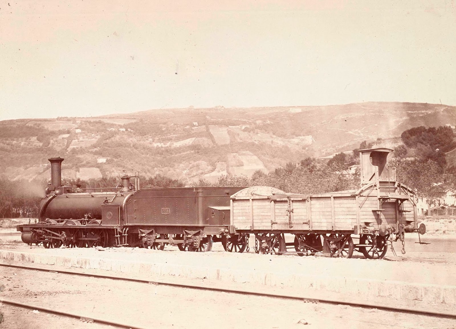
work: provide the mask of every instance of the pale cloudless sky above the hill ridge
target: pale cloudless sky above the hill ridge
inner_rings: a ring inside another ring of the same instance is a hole
[[[0,56],[0,120],[456,105],[456,0],[0,0]]]

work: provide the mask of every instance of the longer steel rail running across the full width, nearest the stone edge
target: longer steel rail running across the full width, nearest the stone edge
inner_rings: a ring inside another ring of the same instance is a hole
[[[107,279],[112,279],[112,280],[149,283],[149,284],[164,285],[164,286],[178,287],[178,288],[209,290],[209,291],[218,291],[218,292],[223,292],[223,293],[253,295],[253,296],[261,296],[261,297],[280,298],[280,299],[292,299],[292,300],[301,300],[301,301],[306,301],[306,302],[315,302],[315,303],[324,303],[324,304],[342,304],[342,305],[368,308],[368,309],[381,309],[381,310],[385,310],[385,311],[394,311],[394,312],[409,313],[409,314],[427,315],[427,316],[433,316],[433,317],[439,317],[439,318],[456,319],[455,313],[438,312],[438,311],[424,310],[424,309],[410,309],[408,307],[390,306],[387,304],[370,303],[367,301],[347,301],[345,299],[325,298],[325,297],[315,298],[315,297],[309,297],[309,296],[302,296],[302,295],[298,295],[298,294],[279,294],[279,293],[274,293],[274,292],[255,291],[253,289],[220,288],[220,287],[214,287],[211,285],[204,285],[204,284],[176,283],[176,282],[163,281],[163,280],[152,281],[152,280],[146,280],[146,279],[140,279],[140,278],[122,277],[122,276],[117,276],[117,275],[80,273],[80,272],[73,272],[73,271],[66,271],[66,270],[52,270],[52,269],[48,269],[48,268],[38,268],[38,267],[30,267],[30,266],[23,266],[23,265],[11,265],[11,264],[5,264],[5,263],[0,263],[0,266],[31,269],[31,270],[52,272],[52,273],[65,273],[65,274],[79,275],[79,276],[92,277],[92,278],[107,278]]]

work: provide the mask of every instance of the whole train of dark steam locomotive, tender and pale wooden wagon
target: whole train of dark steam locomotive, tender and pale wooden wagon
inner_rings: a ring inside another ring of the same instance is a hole
[[[140,188],[124,173],[117,187],[74,190],[62,186],[60,157],[51,162],[51,183],[38,222],[18,225],[22,241],[45,248],[130,246],[206,252],[221,242],[242,253],[255,236],[257,253],[326,253],[383,258],[393,241],[417,227],[413,190],[396,181],[387,157],[393,150],[360,150],[358,190],[303,195],[273,187]],[[294,235],[293,242],[285,234]],[[354,243],[353,239],[358,239]],[[393,240],[394,239],[394,240]]]

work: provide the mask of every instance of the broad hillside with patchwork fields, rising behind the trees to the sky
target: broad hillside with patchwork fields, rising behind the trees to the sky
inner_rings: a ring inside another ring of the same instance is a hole
[[[191,183],[221,174],[268,172],[305,157],[398,137],[411,127],[456,124],[456,107],[366,102],[334,106],[186,108],[97,118],[0,121],[0,172],[49,177],[48,157],[64,157],[63,177],[97,178],[122,169]]]

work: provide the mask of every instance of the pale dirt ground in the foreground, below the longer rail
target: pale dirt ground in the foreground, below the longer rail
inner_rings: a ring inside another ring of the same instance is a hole
[[[53,267],[58,272],[58,267]],[[0,298],[141,328],[455,328],[456,320],[378,309],[0,268]],[[5,329],[108,328],[0,304]]]

